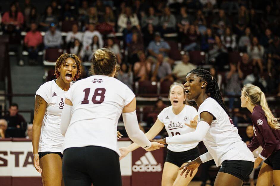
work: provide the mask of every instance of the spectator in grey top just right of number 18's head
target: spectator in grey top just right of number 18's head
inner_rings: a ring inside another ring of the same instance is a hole
[[[126,63],[121,64],[121,68],[118,71],[119,74],[117,76],[117,79],[119,81],[122,81],[124,84],[126,84],[131,90],[133,90],[133,73],[131,71],[131,66],[128,66]]]

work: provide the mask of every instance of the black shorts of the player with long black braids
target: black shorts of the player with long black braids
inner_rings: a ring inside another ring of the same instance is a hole
[[[219,172],[231,174],[241,180],[245,180],[254,169],[254,162],[242,160],[223,161]]]

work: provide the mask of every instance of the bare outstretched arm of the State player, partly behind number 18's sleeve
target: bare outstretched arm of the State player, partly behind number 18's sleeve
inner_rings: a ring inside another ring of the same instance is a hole
[[[161,132],[161,130],[163,129],[164,124],[161,123],[161,121],[159,121],[159,119],[157,119],[157,121],[155,121],[155,124],[153,124],[153,126],[150,128],[150,130],[145,134],[145,136],[149,139],[152,140],[155,138],[156,135],[158,135],[158,133]],[[128,153],[132,152],[133,150],[139,148],[140,146],[137,145],[136,143],[132,143],[131,145],[129,145],[128,147],[122,147],[119,149],[119,151],[121,152],[122,156],[119,157],[119,160],[121,160],[122,158],[124,158]]]

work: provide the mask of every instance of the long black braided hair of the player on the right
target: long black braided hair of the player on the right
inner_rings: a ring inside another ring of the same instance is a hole
[[[216,78],[212,77],[211,73],[209,71],[201,69],[201,68],[193,69],[189,73],[193,73],[196,76],[198,76],[200,78],[200,82],[201,81],[207,82],[206,93],[210,93],[210,97],[212,97],[214,100],[216,100],[216,102],[218,102],[219,105],[221,105],[221,107],[224,109],[224,111],[226,111],[227,115],[229,115],[229,111],[227,110],[226,105],[224,104],[224,102],[222,100],[220,88],[219,88]]]

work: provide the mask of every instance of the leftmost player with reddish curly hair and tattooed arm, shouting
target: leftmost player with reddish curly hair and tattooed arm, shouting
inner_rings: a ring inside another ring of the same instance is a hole
[[[74,54],[62,54],[56,60],[56,79],[46,82],[36,91],[32,146],[34,166],[41,173],[44,186],[62,185],[61,114],[65,93],[80,73],[80,59]]]

